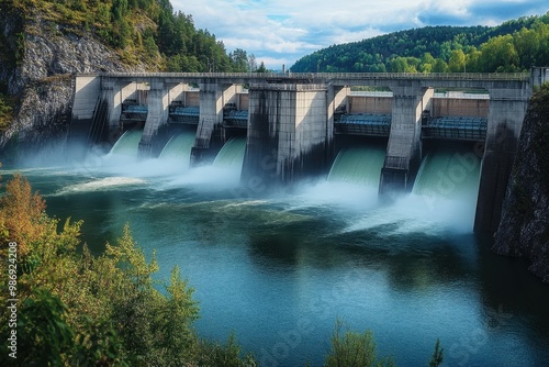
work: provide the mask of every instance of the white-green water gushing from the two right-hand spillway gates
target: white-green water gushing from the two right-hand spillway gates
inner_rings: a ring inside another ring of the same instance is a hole
[[[391,233],[471,233],[479,190],[480,159],[467,148],[438,148],[424,159],[413,191],[378,200],[383,146],[349,147],[337,155],[327,182],[311,188],[313,200],[356,207],[361,213],[345,231],[392,227]],[[323,189],[322,191],[318,189]]]

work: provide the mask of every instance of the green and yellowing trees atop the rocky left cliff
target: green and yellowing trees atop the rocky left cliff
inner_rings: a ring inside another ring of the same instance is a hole
[[[47,22],[67,35],[94,34],[128,65],[141,63],[168,71],[247,71],[250,67],[246,52],[227,54],[223,42],[206,30],[197,29],[192,15],[173,12],[169,0],[0,2],[2,11],[13,12],[26,23]],[[24,47],[16,43],[0,40],[4,49]]]

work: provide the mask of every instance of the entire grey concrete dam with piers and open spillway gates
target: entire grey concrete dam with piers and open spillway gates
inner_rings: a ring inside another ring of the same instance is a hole
[[[347,170],[385,197],[430,169],[423,190],[451,197],[477,171],[474,230],[494,232],[533,86],[548,75],[77,75],[69,140],[190,166],[224,149],[250,190]]]

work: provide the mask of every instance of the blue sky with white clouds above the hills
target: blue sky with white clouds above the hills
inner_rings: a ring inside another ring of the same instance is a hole
[[[291,67],[334,44],[426,25],[497,25],[545,14],[547,0],[171,0],[198,29],[254,54],[267,68]]]

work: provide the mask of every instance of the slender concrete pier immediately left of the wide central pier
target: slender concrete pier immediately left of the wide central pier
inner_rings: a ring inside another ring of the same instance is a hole
[[[210,148],[216,148],[224,143],[223,107],[226,103],[235,103],[235,99],[234,85],[223,85],[215,80],[200,84],[200,118],[191,151],[192,166],[208,160]]]

